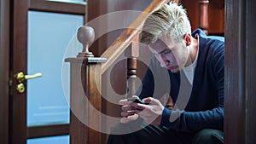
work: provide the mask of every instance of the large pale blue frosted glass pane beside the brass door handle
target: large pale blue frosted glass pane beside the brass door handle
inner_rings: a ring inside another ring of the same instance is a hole
[[[27,73],[41,72],[42,77],[27,81],[28,126],[69,123],[61,64],[83,20],[81,15],[29,11]]]

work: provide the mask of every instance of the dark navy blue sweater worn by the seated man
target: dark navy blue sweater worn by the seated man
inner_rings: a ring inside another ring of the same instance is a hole
[[[177,110],[165,108],[160,125],[172,130],[223,130],[224,37],[207,36],[200,29],[192,33],[193,37],[195,33],[198,33],[200,39],[193,85],[189,85],[183,71],[167,71],[152,58],[143,78],[140,97],[153,96],[160,99],[166,92],[171,95]]]

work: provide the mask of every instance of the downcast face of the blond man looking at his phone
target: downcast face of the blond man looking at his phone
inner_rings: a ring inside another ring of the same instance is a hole
[[[189,49],[184,41],[175,43],[170,39],[160,38],[148,46],[156,59],[160,61],[160,66],[174,73],[181,71],[189,58]]]

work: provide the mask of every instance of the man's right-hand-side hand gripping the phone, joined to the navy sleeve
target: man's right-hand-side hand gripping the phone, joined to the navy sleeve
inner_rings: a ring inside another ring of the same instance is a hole
[[[159,100],[152,97],[145,98],[143,101],[148,105],[132,102],[131,106],[136,108],[135,112],[139,117],[143,118],[146,123],[159,125],[164,106]]]

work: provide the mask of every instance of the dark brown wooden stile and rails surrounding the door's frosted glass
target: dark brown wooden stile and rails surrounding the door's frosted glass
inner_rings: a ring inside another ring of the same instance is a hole
[[[44,11],[61,14],[87,14],[85,3],[63,3],[45,0],[11,0],[10,26],[10,61],[9,75],[13,82],[9,90],[9,143],[26,144],[28,138],[37,138],[55,135],[69,135],[69,124],[47,126],[26,126],[26,92],[20,94],[15,89],[15,73],[27,71],[27,20],[28,11]],[[85,22],[85,21],[84,21]],[[23,50],[22,50],[23,49]],[[24,82],[26,85],[26,82]],[[21,131],[21,132],[20,132]]]

